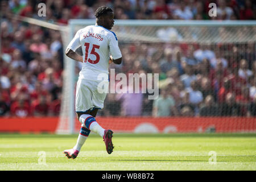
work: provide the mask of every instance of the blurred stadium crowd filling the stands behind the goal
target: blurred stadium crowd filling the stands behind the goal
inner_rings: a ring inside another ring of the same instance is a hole
[[[46,17],[37,5],[46,3]],[[209,3],[217,17],[209,17]],[[14,14],[67,24],[94,18],[97,7],[113,8],[116,19],[255,19],[253,1],[1,1],[0,116],[59,115],[63,86],[60,32],[23,23]],[[99,115],[255,116],[255,43],[119,44],[123,73],[159,73],[160,96],[108,94]],[[76,69],[77,74],[79,68]],[[136,101],[136,102],[135,102]]]

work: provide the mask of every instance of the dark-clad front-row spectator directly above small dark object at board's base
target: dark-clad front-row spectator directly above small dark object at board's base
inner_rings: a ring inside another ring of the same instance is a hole
[[[204,106],[200,108],[200,116],[218,116],[220,109],[214,104],[214,98],[211,95],[205,97]]]

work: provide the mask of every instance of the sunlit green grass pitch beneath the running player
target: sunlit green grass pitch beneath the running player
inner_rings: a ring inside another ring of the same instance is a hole
[[[256,170],[256,134],[114,134],[111,155],[91,134],[79,156],[67,159],[63,150],[76,139],[0,134],[0,170]],[[216,152],[216,164],[209,163],[209,151]]]

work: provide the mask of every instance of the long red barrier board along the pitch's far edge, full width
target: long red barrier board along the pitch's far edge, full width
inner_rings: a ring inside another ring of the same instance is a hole
[[[152,118],[152,117],[97,117],[98,123],[115,133],[204,133],[213,129],[216,133],[255,133],[256,118]],[[59,118],[0,118],[0,132],[54,133]],[[81,123],[75,124],[76,131]]]

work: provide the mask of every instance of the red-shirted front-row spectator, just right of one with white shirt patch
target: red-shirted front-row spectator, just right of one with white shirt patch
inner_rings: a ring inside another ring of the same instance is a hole
[[[32,112],[35,116],[47,116],[49,113],[49,104],[46,96],[40,95],[37,100],[32,103]]]

